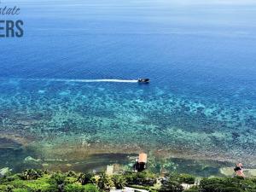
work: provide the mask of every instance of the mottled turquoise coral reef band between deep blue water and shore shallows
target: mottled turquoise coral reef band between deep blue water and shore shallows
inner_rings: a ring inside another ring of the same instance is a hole
[[[144,150],[256,165],[252,101],[190,98],[157,84],[47,79],[1,79],[0,90],[1,137],[22,144],[22,160],[83,160]]]

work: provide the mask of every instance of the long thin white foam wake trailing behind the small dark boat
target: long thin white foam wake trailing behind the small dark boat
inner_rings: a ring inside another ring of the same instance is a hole
[[[94,83],[94,82],[137,83],[137,80],[125,80],[125,79],[29,79],[29,80],[54,81],[54,82],[80,82],[80,83]]]

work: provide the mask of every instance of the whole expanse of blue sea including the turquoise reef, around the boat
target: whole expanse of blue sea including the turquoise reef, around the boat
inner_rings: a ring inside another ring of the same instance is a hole
[[[26,148],[13,159],[96,148],[256,165],[253,1],[2,4],[25,22],[24,38],[0,39],[0,131]]]

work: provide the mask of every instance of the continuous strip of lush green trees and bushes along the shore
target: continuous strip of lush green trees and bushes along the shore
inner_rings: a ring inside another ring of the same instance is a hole
[[[199,185],[195,180],[201,179]],[[76,172],[48,172],[28,169],[20,174],[0,178],[1,192],[102,192],[125,186],[150,192],[256,192],[256,178],[212,177],[196,178],[188,174],[160,177],[151,172],[125,172],[108,176]],[[189,189],[183,189],[184,184]]]

